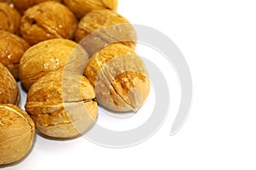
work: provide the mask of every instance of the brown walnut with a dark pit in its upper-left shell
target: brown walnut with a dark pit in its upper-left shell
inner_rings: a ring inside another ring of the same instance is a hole
[[[66,6],[49,1],[26,10],[20,21],[20,33],[31,45],[53,38],[72,39],[77,22]]]

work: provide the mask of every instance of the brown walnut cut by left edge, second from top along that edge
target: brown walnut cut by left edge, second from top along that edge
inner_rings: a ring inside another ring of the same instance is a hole
[[[16,80],[19,79],[20,58],[29,47],[23,38],[0,31],[0,62],[9,69]]]

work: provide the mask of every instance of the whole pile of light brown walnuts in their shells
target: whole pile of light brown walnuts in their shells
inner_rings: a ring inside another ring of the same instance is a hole
[[[0,0],[0,165],[26,156],[35,128],[70,139],[93,125],[98,105],[120,114],[143,105],[148,71],[117,7],[117,0]]]

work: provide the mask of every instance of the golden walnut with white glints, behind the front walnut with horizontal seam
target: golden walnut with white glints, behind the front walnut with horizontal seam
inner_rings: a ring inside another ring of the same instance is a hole
[[[68,66],[70,71],[83,71],[88,55],[84,48],[67,39],[51,39],[28,48],[20,59],[20,82],[28,90],[50,71]]]

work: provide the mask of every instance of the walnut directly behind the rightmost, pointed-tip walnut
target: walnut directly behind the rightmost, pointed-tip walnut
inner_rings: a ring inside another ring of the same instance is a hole
[[[80,20],[75,38],[91,55],[114,42],[136,48],[137,33],[125,17],[112,10],[102,9],[93,10]]]

